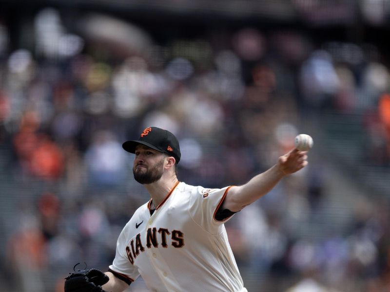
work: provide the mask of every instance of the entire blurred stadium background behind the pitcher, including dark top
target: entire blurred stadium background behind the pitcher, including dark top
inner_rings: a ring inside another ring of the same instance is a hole
[[[312,135],[309,166],[226,224],[245,286],[390,291],[389,33],[387,0],[1,0],[0,291],[107,268],[148,200],[121,149],[146,126],[205,187]]]

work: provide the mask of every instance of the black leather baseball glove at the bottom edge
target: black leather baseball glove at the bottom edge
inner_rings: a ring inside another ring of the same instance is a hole
[[[77,265],[75,273],[65,278],[65,292],[105,292],[101,285],[109,280],[106,274],[97,269],[75,270]]]

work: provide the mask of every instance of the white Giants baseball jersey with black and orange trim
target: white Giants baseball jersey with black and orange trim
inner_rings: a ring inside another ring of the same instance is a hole
[[[123,228],[110,269],[156,292],[247,292],[224,221],[215,212],[229,187],[177,183],[150,213],[142,205]]]

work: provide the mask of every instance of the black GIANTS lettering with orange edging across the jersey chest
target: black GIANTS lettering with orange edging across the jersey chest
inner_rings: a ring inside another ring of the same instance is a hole
[[[162,247],[168,248],[167,237],[169,236],[171,237],[171,245],[173,247],[181,248],[184,246],[184,234],[180,230],[172,230],[170,232],[166,228],[159,228],[157,230],[156,227],[150,227],[146,231],[146,244],[142,244],[141,234],[138,233],[136,241],[132,239],[130,246],[126,246],[126,254],[131,264],[134,265],[134,260],[139,253],[145,251],[145,247],[150,249],[152,246],[158,247],[160,244]]]

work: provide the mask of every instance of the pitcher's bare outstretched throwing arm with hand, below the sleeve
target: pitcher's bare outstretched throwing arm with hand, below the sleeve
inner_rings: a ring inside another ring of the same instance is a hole
[[[308,164],[306,154],[307,151],[292,149],[280,156],[275,165],[256,175],[248,183],[231,187],[226,194],[222,209],[238,212],[261,198],[271,191],[283,177],[305,167]]]

